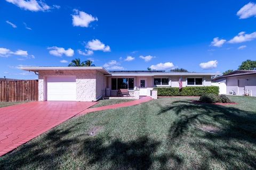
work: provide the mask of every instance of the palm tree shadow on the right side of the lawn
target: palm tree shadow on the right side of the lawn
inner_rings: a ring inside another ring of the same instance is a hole
[[[201,156],[202,159],[197,162],[199,169],[213,168],[214,162],[222,168],[256,168],[255,112],[235,107],[174,101],[171,106],[162,107],[158,115],[170,113],[178,118],[169,129],[169,143],[172,143],[172,147],[179,146],[182,139],[190,138],[183,144]],[[202,131],[198,128],[200,125],[215,126],[220,132]]]

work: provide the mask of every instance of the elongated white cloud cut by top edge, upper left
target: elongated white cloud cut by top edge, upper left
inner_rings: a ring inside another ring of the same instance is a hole
[[[5,0],[7,2],[10,2],[20,8],[23,8],[24,10],[29,11],[47,11],[50,10],[50,6],[48,6],[43,1],[36,1],[36,0]]]

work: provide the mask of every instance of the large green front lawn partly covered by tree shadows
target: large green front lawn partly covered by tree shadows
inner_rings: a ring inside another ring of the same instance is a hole
[[[231,96],[239,104],[229,106],[191,99],[72,118],[1,157],[0,169],[255,169],[256,98]]]

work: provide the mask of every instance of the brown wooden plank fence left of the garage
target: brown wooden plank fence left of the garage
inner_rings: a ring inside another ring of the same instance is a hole
[[[37,101],[38,80],[0,81],[0,101]]]

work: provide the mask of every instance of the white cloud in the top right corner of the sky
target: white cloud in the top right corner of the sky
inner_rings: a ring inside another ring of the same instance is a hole
[[[248,4],[244,5],[237,13],[239,19],[246,19],[252,16],[256,16],[256,4],[253,2],[249,2]]]

